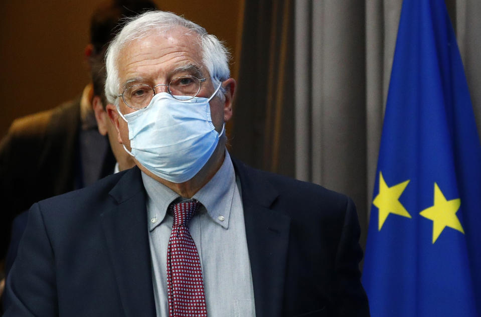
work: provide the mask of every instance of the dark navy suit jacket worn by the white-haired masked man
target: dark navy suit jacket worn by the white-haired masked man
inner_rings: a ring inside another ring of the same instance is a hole
[[[352,201],[234,167],[257,317],[369,315]],[[5,316],[154,317],[145,208],[136,167],[35,204],[8,276]]]

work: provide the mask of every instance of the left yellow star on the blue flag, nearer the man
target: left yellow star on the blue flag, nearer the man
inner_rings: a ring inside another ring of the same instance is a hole
[[[404,206],[399,202],[399,197],[406,189],[409,180],[388,187],[384,181],[383,175],[379,172],[379,194],[374,198],[373,205],[379,209],[379,221],[378,228],[381,231],[381,227],[386,221],[389,214],[395,214],[407,218],[411,218],[411,215],[407,212]]]

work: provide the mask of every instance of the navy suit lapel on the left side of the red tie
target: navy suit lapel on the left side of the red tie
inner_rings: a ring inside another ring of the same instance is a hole
[[[140,171],[127,171],[110,195],[117,206],[101,215],[125,315],[155,316],[145,193]]]

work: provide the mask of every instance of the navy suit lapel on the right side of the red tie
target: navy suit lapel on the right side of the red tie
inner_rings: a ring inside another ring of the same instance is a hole
[[[258,172],[233,160],[241,181],[257,317],[282,315],[290,218],[270,207],[277,191]]]

